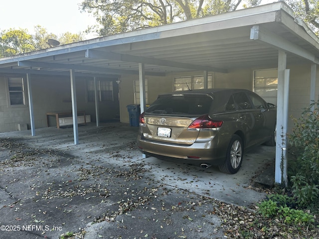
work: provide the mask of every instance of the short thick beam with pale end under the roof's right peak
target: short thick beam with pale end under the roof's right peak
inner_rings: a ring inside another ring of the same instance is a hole
[[[254,25],[250,29],[250,39],[257,40],[262,43],[267,43],[278,50],[290,52],[292,54],[310,60],[313,63],[319,64],[319,59],[314,54],[286,40],[285,38],[278,36],[265,28],[260,27],[259,25]]]

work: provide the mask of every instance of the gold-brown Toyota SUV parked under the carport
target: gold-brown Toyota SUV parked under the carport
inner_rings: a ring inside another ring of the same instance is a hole
[[[138,147],[146,155],[238,172],[244,150],[275,146],[276,108],[243,89],[159,95],[140,116]]]

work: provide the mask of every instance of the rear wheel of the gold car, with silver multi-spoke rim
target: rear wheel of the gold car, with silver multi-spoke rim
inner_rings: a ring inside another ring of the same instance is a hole
[[[243,156],[243,141],[238,135],[233,135],[227,148],[226,160],[219,165],[219,170],[229,174],[237,173],[243,161]]]

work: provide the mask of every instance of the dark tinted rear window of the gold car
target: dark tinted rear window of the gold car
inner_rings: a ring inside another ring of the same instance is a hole
[[[160,96],[146,113],[163,115],[204,115],[209,113],[212,98],[207,95]]]

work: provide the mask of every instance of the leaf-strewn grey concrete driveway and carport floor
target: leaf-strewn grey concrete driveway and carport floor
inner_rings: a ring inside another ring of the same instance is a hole
[[[73,128],[0,134],[1,238],[222,238],[215,200],[249,207],[266,196],[251,185],[274,162],[274,147],[247,152],[228,175],[143,159],[137,131],[89,124],[79,127],[79,145]]]

